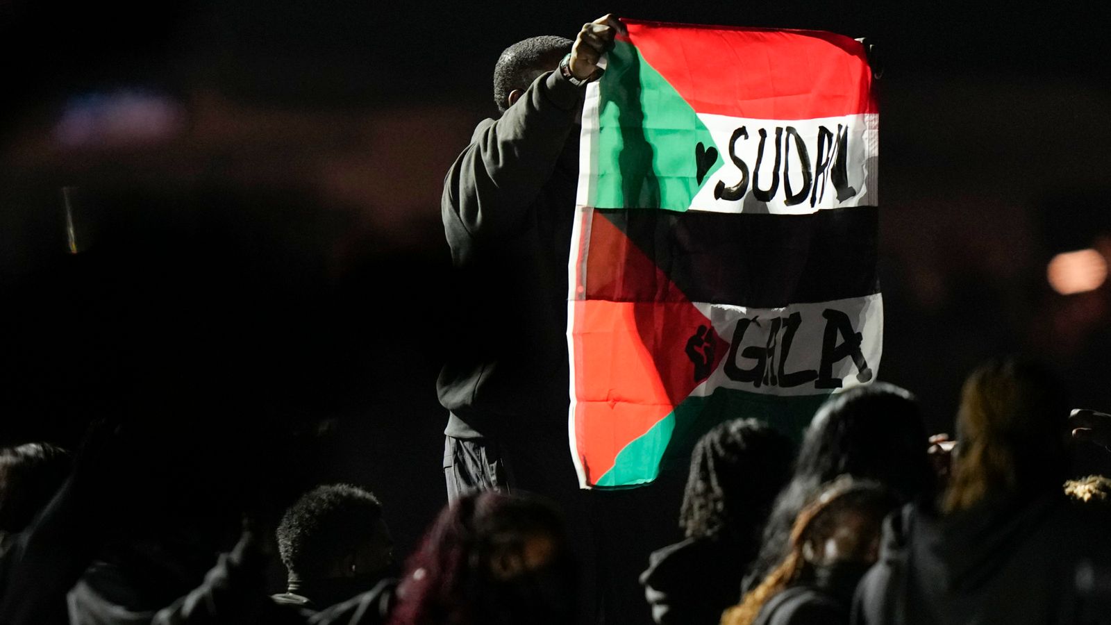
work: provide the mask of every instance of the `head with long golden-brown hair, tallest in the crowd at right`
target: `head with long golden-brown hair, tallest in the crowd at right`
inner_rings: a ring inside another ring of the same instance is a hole
[[[957,414],[947,510],[988,494],[1045,493],[1061,487],[1068,468],[1069,401],[1044,367],[992,359],[964,381]]]

